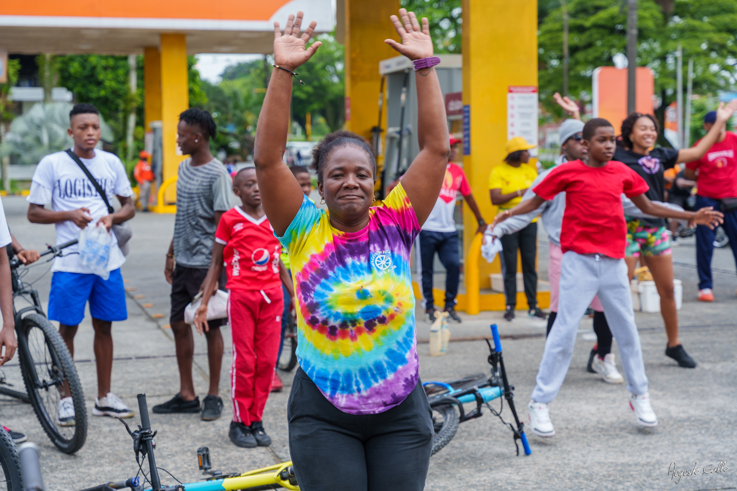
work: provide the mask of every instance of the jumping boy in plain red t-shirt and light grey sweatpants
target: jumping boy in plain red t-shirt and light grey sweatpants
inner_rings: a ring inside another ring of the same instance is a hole
[[[548,403],[556,397],[565,379],[576,332],[586,308],[598,295],[622,357],[627,390],[632,393],[629,406],[642,426],[657,425],[648,393],[642,347],[632,294],[624,262],[626,222],[621,194],[626,194],[643,213],[663,218],[686,219],[713,226],[722,213],[704,208],[698,212],[674,211],[648,199],[648,186],[624,163],[611,161],[616,145],[614,128],[606,119],[592,119],[584,125],[583,141],[588,160],[573,160],[553,169],[534,188],[536,196],[509,211],[499,213],[495,223],[509,216],[530,213],[547,199],[565,191],[565,213],[561,232],[560,298],[545,351],[542,354],[537,384],[528,405],[529,425],[539,437],[555,434]],[[492,226],[493,226],[492,225]]]

